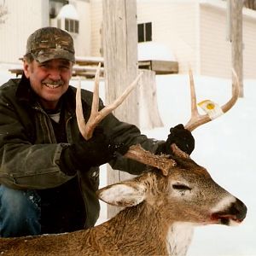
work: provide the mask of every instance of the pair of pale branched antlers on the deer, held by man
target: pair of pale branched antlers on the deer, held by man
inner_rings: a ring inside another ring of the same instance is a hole
[[[82,136],[85,140],[90,139],[92,137],[93,131],[98,125],[102,119],[104,119],[108,113],[111,113],[115,108],[118,108],[119,105],[125,101],[125,98],[131,93],[131,90],[135,88],[137,85],[138,80],[141,78],[143,73],[140,73],[137,78],[127,87],[127,89],[124,91],[124,93],[119,96],[118,99],[116,99],[112,104],[108,105],[107,107],[103,108],[101,111],[98,111],[99,108],[99,73],[100,73],[100,67],[101,63],[99,63],[97,70],[96,70],[96,76],[95,76],[95,86],[94,86],[94,94],[93,94],[93,100],[92,100],[92,108],[90,113],[90,118],[85,124],[84,122],[84,114],[83,114],[83,108],[82,108],[82,102],[81,102],[81,88],[80,85],[77,89],[77,95],[76,95],[76,115],[78,119],[78,125],[79,125],[79,131],[81,132]],[[236,76],[236,86],[234,89],[234,93],[232,98],[229,102],[224,104],[222,108],[223,112],[227,112],[234,104],[236,103],[236,100],[239,95],[239,82]],[[193,131],[196,127],[203,125],[212,119],[207,115],[201,115],[198,113],[198,110],[196,108],[196,97],[195,97],[195,85],[194,80],[192,76],[192,72],[189,71],[189,78],[190,78],[190,90],[191,90],[191,119],[189,120],[188,124],[185,125],[186,129],[189,131]],[[176,147],[177,148],[177,147]],[[174,147],[175,149],[175,147]],[[183,152],[181,152],[183,153]],[[161,170],[163,175],[167,175],[170,168],[173,166],[176,166],[176,162],[174,160],[168,159],[166,155],[155,155],[145,149],[143,149],[140,145],[132,145],[128,152],[124,155],[126,158],[129,158],[131,160],[137,160],[145,165],[148,166],[154,166]]]

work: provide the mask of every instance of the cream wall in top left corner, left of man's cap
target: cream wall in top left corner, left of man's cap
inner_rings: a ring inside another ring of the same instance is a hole
[[[27,37],[41,26],[49,26],[49,3],[45,0],[5,1],[8,15],[0,24],[0,63],[20,63]]]

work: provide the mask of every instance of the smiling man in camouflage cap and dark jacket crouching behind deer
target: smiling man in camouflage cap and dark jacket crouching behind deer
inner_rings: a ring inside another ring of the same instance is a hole
[[[24,73],[0,87],[0,236],[28,236],[89,228],[99,216],[99,166],[133,174],[145,166],[122,157],[140,143],[154,153],[188,154],[191,133],[177,125],[166,142],[143,136],[109,114],[85,141],[75,116],[76,89],[69,85],[75,61],[73,38],[44,27],[27,39]],[[84,118],[92,93],[82,91]],[[102,101],[100,108],[104,108]]]

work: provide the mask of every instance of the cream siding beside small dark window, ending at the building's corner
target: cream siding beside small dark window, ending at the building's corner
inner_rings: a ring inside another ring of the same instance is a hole
[[[152,22],[153,42],[166,45],[176,57],[179,73],[196,68],[196,1],[137,1],[137,22]]]

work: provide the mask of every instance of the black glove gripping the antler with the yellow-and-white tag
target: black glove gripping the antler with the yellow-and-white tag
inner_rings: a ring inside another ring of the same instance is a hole
[[[166,140],[159,146],[157,152],[163,154],[172,154],[171,145],[175,143],[178,148],[187,154],[191,154],[195,148],[195,139],[191,132],[184,128],[182,124],[176,125],[170,129],[170,134]]]

